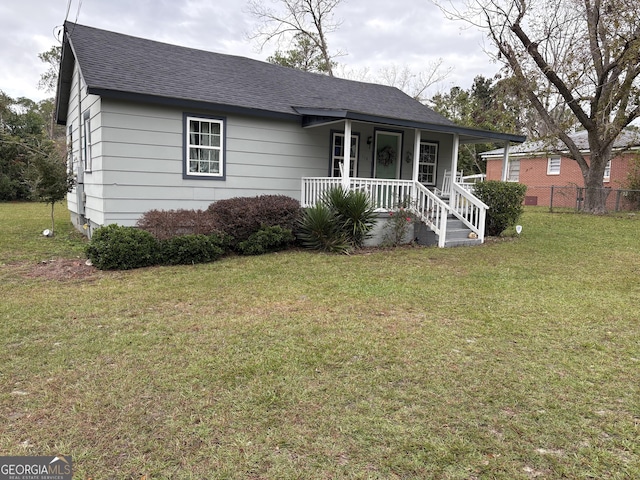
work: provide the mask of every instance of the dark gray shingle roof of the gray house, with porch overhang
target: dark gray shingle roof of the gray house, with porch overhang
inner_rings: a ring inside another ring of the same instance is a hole
[[[57,118],[66,123],[73,60],[89,93],[302,118],[353,118],[459,133],[461,141],[524,137],[460,127],[395,87],[303,72],[249,58],[195,50],[65,23]],[[463,138],[464,136],[464,138]]]

